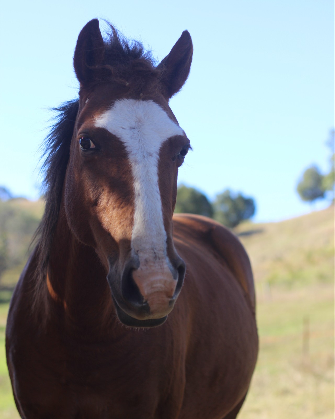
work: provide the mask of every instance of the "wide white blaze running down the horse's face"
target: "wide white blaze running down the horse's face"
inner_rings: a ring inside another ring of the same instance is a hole
[[[116,135],[128,152],[135,188],[132,251],[141,265],[157,259],[169,265],[158,186],[159,150],[165,140],[184,135],[184,131],[157,103],[134,99],[116,101],[112,109],[96,118],[95,126]]]

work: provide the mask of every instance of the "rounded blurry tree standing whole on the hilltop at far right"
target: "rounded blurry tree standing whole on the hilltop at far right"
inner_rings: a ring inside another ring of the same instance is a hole
[[[320,173],[317,166],[311,166],[304,171],[300,182],[297,185],[297,192],[303,201],[315,201],[315,199],[325,197],[323,186],[324,176]]]

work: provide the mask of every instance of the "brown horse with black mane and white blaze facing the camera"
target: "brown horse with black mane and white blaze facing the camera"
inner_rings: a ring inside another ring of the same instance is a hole
[[[155,67],[111,31],[81,31],[79,99],[47,138],[40,238],[6,329],[16,406],[26,419],[232,419],[258,350],[249,259],[217,222],[172,218],[190,141],[168,103],[190,34]]]

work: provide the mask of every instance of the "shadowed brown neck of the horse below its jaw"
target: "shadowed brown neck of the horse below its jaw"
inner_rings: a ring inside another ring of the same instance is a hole
[[[47,288],[51,305],[64,310],[69,327],[92,336],[94,331],[114,328],[116,313],[106,274],[95,250],[80,243],[71,232],[61,206],[49,257]]]

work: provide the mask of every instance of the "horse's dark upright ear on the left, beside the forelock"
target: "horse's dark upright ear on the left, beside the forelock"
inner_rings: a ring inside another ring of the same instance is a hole
[[[81,30],[75,46],[73,67],[79,83],[86,84],[93,79],[94,67],[102,63],[104,52],[99,21],[92,19]]]

